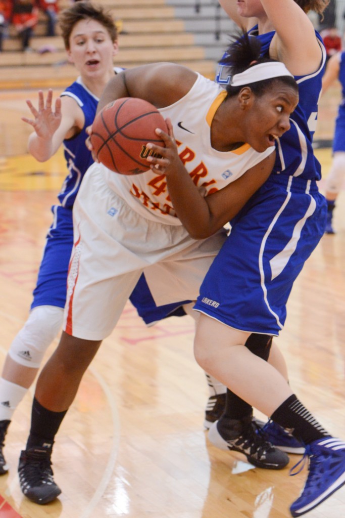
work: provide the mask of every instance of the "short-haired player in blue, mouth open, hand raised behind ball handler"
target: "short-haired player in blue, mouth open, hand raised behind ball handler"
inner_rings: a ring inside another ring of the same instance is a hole
[[[76,32],[76,27],[78,32]],[[98,99],[108,80],[122,68],[114,68],[118,51],[114,20],[103,9],[78,2],[63,12],[61,28],[69,62],[80,76],[56,100],[38,94],[38,108],[28,101],[34,119],[24,118],[34,132],[28,149],[44,162],[63,145],[68,175],[58,205],[52,207],[53,223],[33,293],[31,312],[11,343],[0,378],[0,474],[6,473],[3,447],[14,410],[33,383],[43,355],[62,327],[66,279],[73,246],[72,207],[85,171],[93,163],[85,146],[85,128],[92,124]]]

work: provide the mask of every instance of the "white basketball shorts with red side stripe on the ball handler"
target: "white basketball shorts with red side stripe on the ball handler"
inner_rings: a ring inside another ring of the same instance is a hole
[[[87,340],[109,336],[143,271],[157,305],[196,300],[226,239],[220,231],[195,240],[182,225],[143,218],[109,188],[98,164],[83,179],[73,226],[64,330]]]

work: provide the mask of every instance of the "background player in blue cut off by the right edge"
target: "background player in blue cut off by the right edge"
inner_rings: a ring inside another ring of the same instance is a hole
[[[322,93],[338,80],[341,85],[341,101],[335,123],[333,138],[333,162],[326,178],[325,196],[327,200],[326,234],[335,234],[333,211],[345,178],[345,52],[337,52],[329,58],[322,78]]]

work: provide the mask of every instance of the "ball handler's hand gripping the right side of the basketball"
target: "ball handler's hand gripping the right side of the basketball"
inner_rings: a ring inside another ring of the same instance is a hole
[[[170,119],[166,119],[168,126],[168,134],[157,128],[157,135],[164,141],[164,148],[157,146],[153,142],[148,142],[146,147],[153,151],[152,155],[147,157],[150,168],[157,175],[166,175],[176,172],[181,168],[182,162],[179,159],[177,145],[174,137],[173,127]]]

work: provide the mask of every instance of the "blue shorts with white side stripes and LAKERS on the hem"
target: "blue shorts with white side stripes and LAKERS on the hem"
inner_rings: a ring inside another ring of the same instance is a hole
[[[231,221],[194,309],[235,329],[277,336],[292,285],[325,222],[315,181],[272,174]]]

